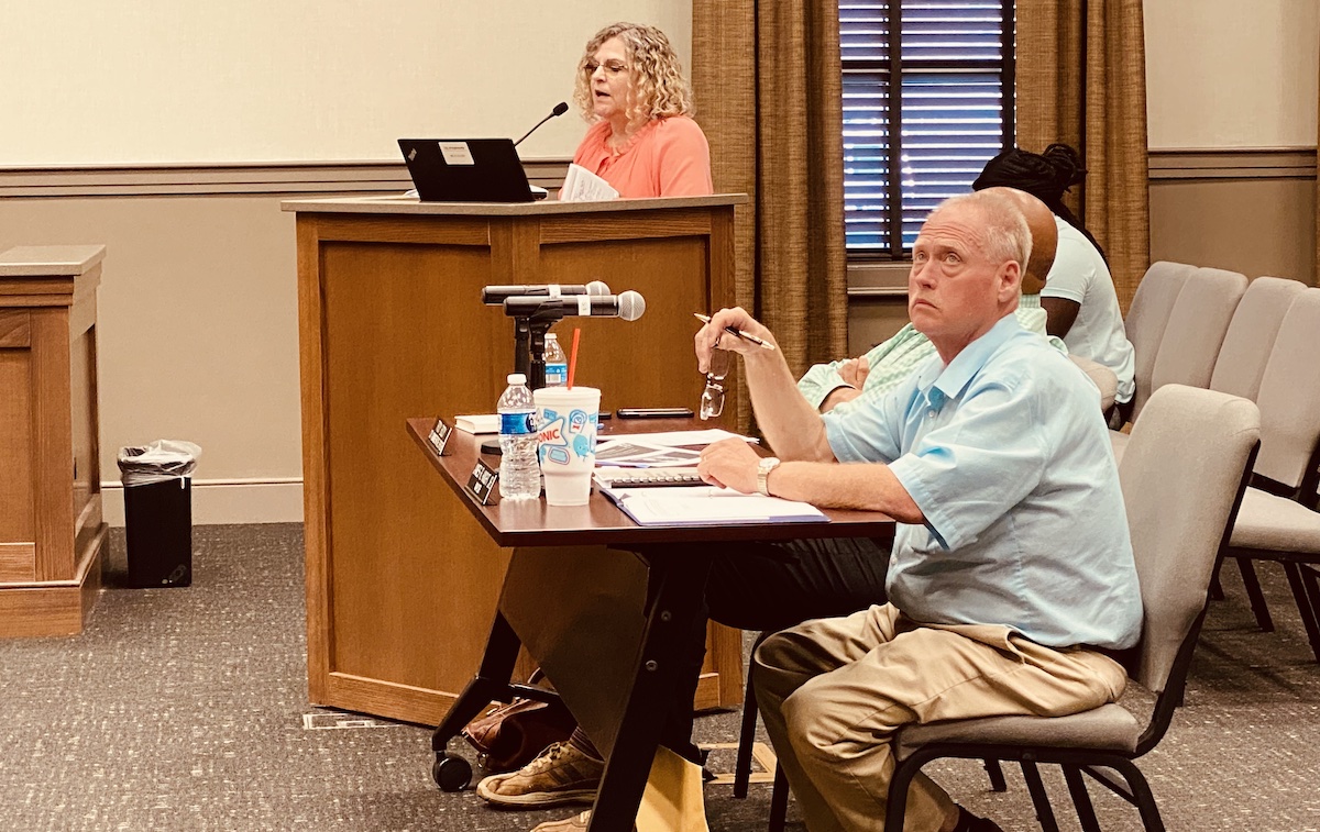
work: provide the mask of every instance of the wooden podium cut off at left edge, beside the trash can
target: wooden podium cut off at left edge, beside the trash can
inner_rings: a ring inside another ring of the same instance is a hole
[[[104,245],[0,254],[0,637],[71,636],[100,589]]]

